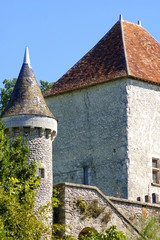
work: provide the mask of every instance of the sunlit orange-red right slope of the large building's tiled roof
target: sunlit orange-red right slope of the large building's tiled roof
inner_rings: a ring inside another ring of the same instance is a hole
[[[129,76],[160,84],[160,44],[141,26],[123,22]]]

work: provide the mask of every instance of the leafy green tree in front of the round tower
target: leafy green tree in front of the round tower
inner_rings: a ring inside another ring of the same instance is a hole
[[[27,142],[18,137],[10,143],[0,122],[0,239],[46,239],[48,228],[42,220],[45,208],[35,211],[40,186],[37,167],[28,163]]]

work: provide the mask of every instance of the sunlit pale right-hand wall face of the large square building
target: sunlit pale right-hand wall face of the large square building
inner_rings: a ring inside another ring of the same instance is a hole
[[[127,99],[128,197],[144,201],[152,193],[160,196],[152,179],[152,158],[160,158],[160,87],[128,80]]]

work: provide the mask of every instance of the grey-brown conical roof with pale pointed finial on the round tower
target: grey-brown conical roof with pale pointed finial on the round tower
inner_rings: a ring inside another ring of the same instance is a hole
[[[32,70],[28,48],[25,49],[20,74],[11,99],[2,113],[2,117],[26,114],[53,117],[53,114],[46,105]]]

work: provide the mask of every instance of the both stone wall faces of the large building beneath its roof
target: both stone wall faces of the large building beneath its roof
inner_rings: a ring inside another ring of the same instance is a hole
[[[88,184],[107,196],[160,196],[160,184],[152,179],[152,158],[160,158],[159,86],[123,79],[46,101],[59,121],[55,183],[84,183],[87,167]]]

